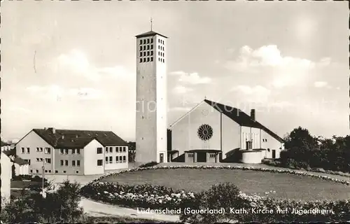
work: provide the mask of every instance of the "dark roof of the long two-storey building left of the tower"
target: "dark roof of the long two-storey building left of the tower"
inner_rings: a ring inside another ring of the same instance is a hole
[[[84,148],[96,139],[103,146],[127,146],[127,142],[113,132],[87,130],[34,129],[38,136],[54,148]]]

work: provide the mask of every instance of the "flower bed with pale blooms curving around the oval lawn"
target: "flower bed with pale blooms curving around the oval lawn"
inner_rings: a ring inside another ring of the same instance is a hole
[[[308,174],[306,172],[300,172],[295,170],[286,169],[267,169],[258,167],[231,167],[231,166],[169,166],[169,167],[144,167],[124,170],[112,174],[106,174],[94,181],[91,181],[86,186],[81,189],[81,193],[85,197],[90,197],[93,200],[99,200],[102,202],[108,202],[111,204],[118,204],[127,207],[141,207],[141,208],[151,208],[151,209],[185,209],[193,208],[197,209],[201,204],[206,204],[204,197],[206,193],[191,193],[184,191],[175,191],[172,188],[166,188],[163,186],[151,186],[151,185],[141,185],[141,186],[125,186],[118,183],[106,183],[100,180],[106,178],[107,176],[115,176],[125,172],[135,172],[139,170],[153,170],[153,169],[241,169],[241,170],[253,170],[261,172],[272,172],[272,173],[287,173],[300,176],[311,176],[318,179],[334,181],[337,183],[342,183],[347,186],[350,185],[349,181],[338,180],[328,176],[321,176],[316,174]],[[220,202],[225,200],[225,195],[222,197],[222,192],[217,195],[221,195],[221,198],[216,200]],[[218,197],[218,196],[217,196]],[[339,200],[339,201],[316,201],[316,202],[300,202],[295,200],[276,200],[271,197],[261,197],[259,195],[246,195],[244,193],[239,193],[236,197],[239,200],[241,208],[257,209],[257,210],[272,210],[273,214],[254,214],[250,212],[248,214],[237,214],[235,216],[230,215],[227,211],[226,216],[217,216],[222,218],[216,221],[238,220],[238,221],[349,221],[350,220],[350,201],[349,200]],[[215,202],[211,201],[207,203],[208,207],[214,206]],[[239,209],[239,208],[237,208]],[[286,210],[286,214],[277,213],[276,211]],[[229,210],[228,207],[225,210]],[[292,211],[300,211],[299,214],[292,213]],[[202,216],[202,217],[201,217]],[[201,219],[202,218],[202,219]],[[204,219],[203,219],[204,218]],[[209,223],[211,219],[205,219],[205,214],[182,214],[181,221],[190,221],[195,223],[195,221],[200,220],[199,223]]]

